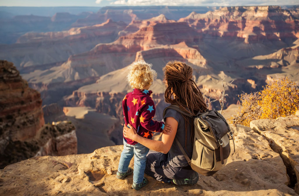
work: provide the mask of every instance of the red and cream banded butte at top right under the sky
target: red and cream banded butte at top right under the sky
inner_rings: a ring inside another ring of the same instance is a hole
[[[199,33],[243,39],[245,43],[299,38],[298,18],[280,6],[223,7],[181,18]]]

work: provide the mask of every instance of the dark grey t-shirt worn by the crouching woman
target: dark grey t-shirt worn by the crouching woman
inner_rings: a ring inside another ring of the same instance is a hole
[[[184,117],[181,115],[181,113],[179,113],[178,111],[173,110],[171,108],[168,108],[166,110],[166,114],[164,116],[164,121],[166,121],[167,117],[173,117],[174,119],[176,119],[176,121],[178,121],[178,129],[176,131],[176,139],[179,140],[180,144],[184,148],[184,151],[187,153],[188,157],[191,158],[192,152],[193,152],[193,147],[190,142],[191,124],[188,124],[187,132],[186,132]],[[189,123],[193,124],[193,122],[189,122]],[[187,135],[187,140],[186,140],[187,148],[185,147],[185,136],[186,135]],[[173,140],[173,144],[168,152],[167,160],[169,161],[169,164],[173,167],[185,167],[185,166],[189,165],[187,160],[185,159],[183,153],[181,152],[179,146],[177,145],[176,140]]]

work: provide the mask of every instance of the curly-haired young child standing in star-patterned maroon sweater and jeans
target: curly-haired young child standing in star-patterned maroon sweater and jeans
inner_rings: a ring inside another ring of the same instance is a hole
[[[125,124],[131,124],[137,134],[146,138],[152,138],[152,132],[162,132],[164,122],[152,120],[155,116],[155,104],[152,101],[152,91],[148,90],[157,74],[151,69],[151,64],[143,60],[134,62],[129,67],[127,81],[134,89],[123,98],[123,117]],[[146,155],[149,149],[131,139],[123,136],[123,152],[120,155],[117,178],[124,179],[132,174],[133,169],[129,168],[129,163],[134,157],[134,174],[132,188],[139,190],[147,185],[147,179],[144,178],[144,169]]]

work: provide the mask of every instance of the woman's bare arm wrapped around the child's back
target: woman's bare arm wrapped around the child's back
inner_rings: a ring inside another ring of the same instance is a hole
[[[138,135],[134,127],[132,127],[130,124],[129,124],[130,128],[125,126],[123,132],[126,133],[126,138],[132,139],[146,146],[151,150],[167,154],[176,136],[178,121],[176,121],[176,119],[173,117],[168,117],[166,118],[165,124],[169,124],[172,128],[172,131],[169,133],[163,133],[162,141],[147,139],[145,137]]]

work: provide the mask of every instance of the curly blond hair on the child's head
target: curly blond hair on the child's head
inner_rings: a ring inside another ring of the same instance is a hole
[[[152,85],[152,81],[157,77],[157,73],[152,69],[152,64],[146,63],[144,60],[138,60],[129,66],[127,81],[133,89],[144,89],[148,85]]]

